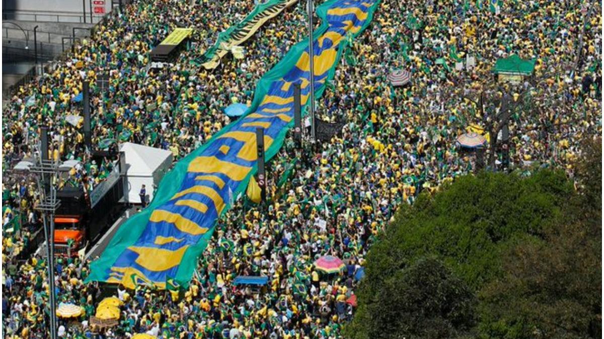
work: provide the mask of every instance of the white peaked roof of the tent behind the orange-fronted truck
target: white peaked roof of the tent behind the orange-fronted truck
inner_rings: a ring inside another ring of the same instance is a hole
[[[162,163],[172,157],[172,151],[126,142],[120,145],[126,154],[127,176],[153,176]]]

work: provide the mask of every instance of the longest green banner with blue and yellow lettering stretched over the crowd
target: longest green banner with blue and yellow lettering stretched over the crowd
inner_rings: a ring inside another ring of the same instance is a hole
[[[367,27],[378,4],[379,0],[331,0],[317,8],[322,22],[313,42],[317,97],[333,78],[348,41]],[[186,288],[217,218],[230,208],[230,197],[244,191],[257,171],[255,128],[264,128],[265,154],[270,159],[294,124],[292,84],[301,84],[306,106],[309,77],[306,40],[294,45],[260,79],[254,101],[242,118],[165,175],[149,207],[124,223],[92,263],[87,281],[164,289],[170,280]]]

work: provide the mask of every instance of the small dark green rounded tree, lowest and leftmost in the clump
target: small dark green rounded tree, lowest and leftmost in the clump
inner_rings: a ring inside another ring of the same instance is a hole
[[[367,332],[348,328],[349,338],[451,338],[474,323],[475,297],[467,285],[434,258],[422,258],[385,280],[359,310]],[[367,317],[367,315],[370,316]]]

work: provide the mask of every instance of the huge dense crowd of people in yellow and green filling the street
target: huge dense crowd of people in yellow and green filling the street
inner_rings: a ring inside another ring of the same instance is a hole
[[[225,106],[251,103],[255,80],[305,35],[304,7],[298,4],[245,43],[245,59],[227,57],[214,71],[191,68],[190,60],[216,33],[253,5],[126,6],[101,28],[98,40],[70,55],[74,60],[11,100],[3,113],[3,121],[14,122],[3,125],[3,163],[31,153],[11,141],[32,145],[40,124],[51,126],[57,156],[86,163],[82,135],[63,117],[79,110],[70,99],[81,90],[79,79],[108,69],[117,71],[111,72],[109,92],[95,94],[95,142],[121,138],[169,148],[176,159],[184,156],[228,124]],[[213,6],[220,11],[211,11]],[[382,0],[318,104],[321,119],[345,121],[341,134],[316,145],[304,141],[301,148],[288,136],[269,163],[268,200],[254,205],[244,197],[220,218],[188,290],[119,287],[120,324],[103,335],[339,337],[353,312],[365,254],[397,206],[474,170],[474,154],[455,144],[468,126],[496,125],[498,113],[509,110],[510,168],[554,166],[573,175],[580,141],[602,132],[602,18],[594,6],[592,13],[571,1],[510,1],[493,13],[486,1],[429,1],[419,8],[411,1]],[[150,47],[182,22],[207,31],[196,33],[175,66],[147,71]],[[497,84],[492,67],[512,54],[535,59],[535,75],[518,85]],[[475,59],[474,66],[466,67],[467,57]],[[85,60],[83,75],[79,60]],[[411,71],[411,83],[391,86],[387,75],[394,69]],[[28,105],[32,95],[36,103]],[[503,162],[500,156],[495,160]],[[80,171],[86,185],[91,171]],[[15,208],[32,206],[34,189],[15,185]],[[11,260],[18,242],[14,236],[2,242],[5,336],[47,337],[45,261]],[[322,274],[312,263],[323,255],[341,258],[345,269]],[[57,264],[59,300],[86,310],[77,326],[60,320],[64,337],[91,336],[88,319],[100,288],[83,284],[88,264]],[[236,287],[238,275],[268,276],[269,284],[262,291]]]

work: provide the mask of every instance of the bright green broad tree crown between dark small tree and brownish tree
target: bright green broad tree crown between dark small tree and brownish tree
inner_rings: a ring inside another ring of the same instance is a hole
[[[524,236],[542,237],[562,217],[571,194],[573,185],[557,171],[526,179],[460,177],[433,197],[420,195],[412,207],[400,208],[368,255],[367,275],[379,286],[398,268],[434,255],[470,287],[480,287],[502,273],[504,249]]]

